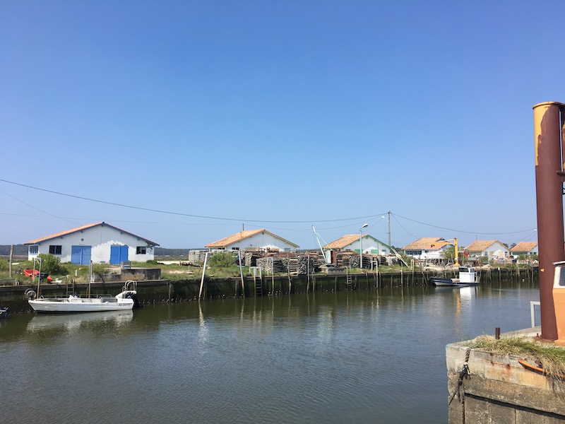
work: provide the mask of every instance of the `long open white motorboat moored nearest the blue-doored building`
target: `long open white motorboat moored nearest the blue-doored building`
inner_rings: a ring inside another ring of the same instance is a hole
[[[35,293],[26,293],[28,302],[35,312],[101,312],[101,311],[123,311],[132,310],[138,304],[136,290],[129,286],[135,281],[128,281],[123,291],[115,296],[102,295],[97,298],[81,298],[69,295],[68,298],[35,298]]]

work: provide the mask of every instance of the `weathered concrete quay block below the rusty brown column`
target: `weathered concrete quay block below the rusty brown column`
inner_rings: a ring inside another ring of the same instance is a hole
[[[540,333],[540,327],[530,334],[536,332]],[[448,407],[450,424],[565,422],[565,382],[526,370],[518,363],[521,358],[489,351],[470,349],[470,378],[463,378],[458,399],[458,381],[468,351],[465,343],[446,346],[448,401],[455,395]]]

